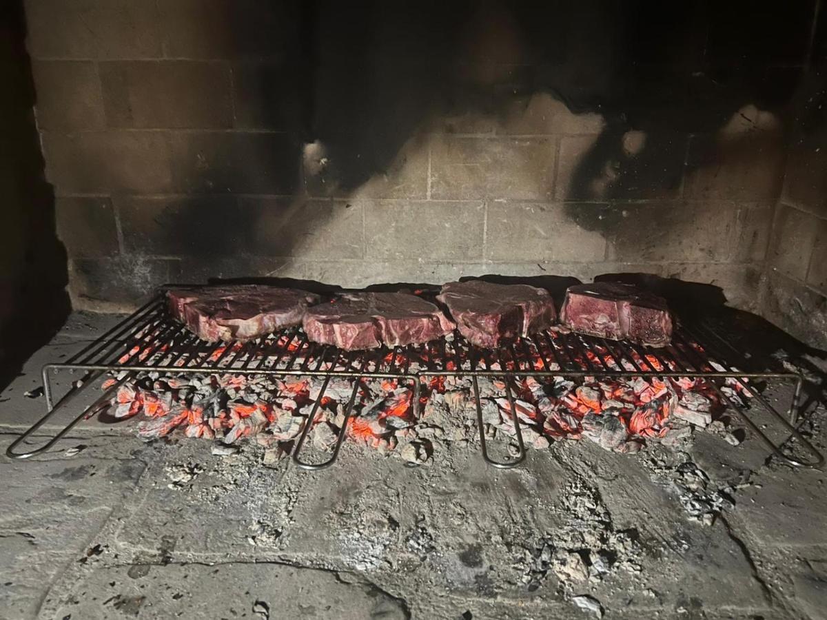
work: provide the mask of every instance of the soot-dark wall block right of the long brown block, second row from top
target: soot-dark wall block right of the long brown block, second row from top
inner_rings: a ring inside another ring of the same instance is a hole
[[[304,107],[294,63],[247,61],[232,65],[236,126],[241,129],[299,131]]]

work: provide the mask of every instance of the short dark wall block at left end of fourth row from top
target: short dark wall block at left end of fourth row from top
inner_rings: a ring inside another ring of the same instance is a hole
[[[117,226],[109,198],[57,198],[57,235],[72,258],[117,254]]]

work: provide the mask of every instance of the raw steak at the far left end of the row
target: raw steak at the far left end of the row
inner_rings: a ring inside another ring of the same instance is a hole
[[[318,295],[261,284],[184,287],[166,293],[170,313],[209,342],[249,341],[301,325]]]

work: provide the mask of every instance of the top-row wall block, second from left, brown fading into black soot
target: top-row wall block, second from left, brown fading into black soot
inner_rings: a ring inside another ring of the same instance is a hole
[[[170,58],[280,58],[298,49],[299,2],[165,0],[158,7]]]

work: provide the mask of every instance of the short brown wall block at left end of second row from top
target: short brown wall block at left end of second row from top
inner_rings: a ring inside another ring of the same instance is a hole
[[[103,129],[103,100],[93,62],[35,60],[31,72],[36,88],[37,126],[41,130]]]

